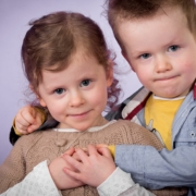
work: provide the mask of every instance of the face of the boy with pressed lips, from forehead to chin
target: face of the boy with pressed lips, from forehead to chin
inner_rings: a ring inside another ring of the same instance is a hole
[[[180,9],[122,22],[118,33],[145,87],[164,98],[187,95],[196,77],[196,41]]]

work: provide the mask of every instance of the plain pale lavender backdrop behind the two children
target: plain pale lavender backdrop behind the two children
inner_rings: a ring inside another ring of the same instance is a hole
[[[121,100],[140,87],[135,73],[121,56],[110,26],[102,15],[105,0],[0,0],[0,164],[9,155],[10,127],[17,110],[25,105],[27,82],[21,68],[20,50],[28,22],[54,11],[76,11],[95,20],[103,29],[107,42],[117,53],[123,86]]]

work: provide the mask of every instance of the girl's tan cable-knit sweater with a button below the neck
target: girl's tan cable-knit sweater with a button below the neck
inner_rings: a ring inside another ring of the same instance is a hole
[[[70,145],[86,147],[88,144],[137,144],[150,145],[157,149],[162,148],[161,143],[152,133],[135,123],[123,120],[119,120],[98,132],[37,131],[22,136],[14,145],[10,156],[0,166],[0,193],[21,182],[39,162],[44,160],[51,162],[64,152]],[[187,192],[185,188],[164,188],[154,191],[154,193],[160,196],[180,196]],[[62,191],[62,195],[96,196],[98,192],[95,187],[85,185]]]

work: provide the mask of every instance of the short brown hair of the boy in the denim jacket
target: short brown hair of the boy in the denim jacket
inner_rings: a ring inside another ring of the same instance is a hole
[[[187,19],[189,30],[196,35],[195,0],[107,0],[107,7],[108,21],[122,48],[121,38],[118,35],[119,22],[151,17],[164,8],[179,7]]]

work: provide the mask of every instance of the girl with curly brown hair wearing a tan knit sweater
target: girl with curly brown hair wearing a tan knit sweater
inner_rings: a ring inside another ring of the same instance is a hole
[[[2,195],[154,195],[115,168],[110,151],[99,148],[95,184],[63,172],[74,167],[62,154],[71,146],[140,144],[161,149],[159,139],[128,121],[108,122],[101,112],[119,95],[113,61],[100,28],[78,13],[57,12],[30,23],[22,46],[24,71],[41,107],[58,121],[56,128],[22,136],[0,167]],[[94,146],[88,146],[94,151]],[[72,155],[66,152],[68,155]],[[66,156],[66,155],[64,155]],[[107,179],[111,175],[109,179]],[[113,182],[112,182],[113,183]],[[95,188],[97,187],[97,189]],[[158,193],[161,193],[158,192]]]

